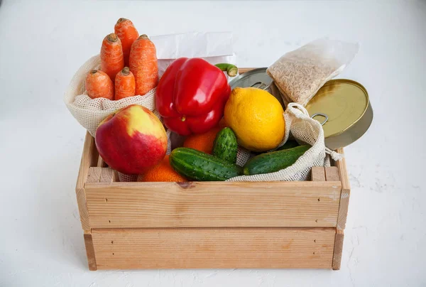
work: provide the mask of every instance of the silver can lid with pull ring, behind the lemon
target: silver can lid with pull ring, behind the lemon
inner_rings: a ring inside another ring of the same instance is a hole
[[[259,89],[268,90],[272,79],[266,74],[266,69],[266,67],[260,67],[238,75],[229,85],[231,85],[232,89],[235,87],[258,87]]]

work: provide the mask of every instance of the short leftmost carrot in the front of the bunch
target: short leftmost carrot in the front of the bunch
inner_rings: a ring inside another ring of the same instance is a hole
[[[86,90],[89,97],[114,99],[114,83],[109,76],[99,70],[91,70],[86,76]]]

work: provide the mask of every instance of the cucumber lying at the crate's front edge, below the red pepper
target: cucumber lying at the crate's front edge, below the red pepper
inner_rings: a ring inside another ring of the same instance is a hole
[[[170,165],[191,180],[223,181],[242,175],[243,168],[194,148],[175,148],[170,153]]]

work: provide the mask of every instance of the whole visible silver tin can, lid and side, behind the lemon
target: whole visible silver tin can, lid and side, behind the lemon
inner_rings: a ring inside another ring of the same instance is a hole
[[[272,78],[266,74],[266,69],[266,67],[260,67],[249,72],[244,72],[244,74],[238,75],[231,80],[229,85],[231,89],[235,87],[257,87],[258,89],[266,90],[278,99],[280,104],[284,107],[280,91],[275,86]]]

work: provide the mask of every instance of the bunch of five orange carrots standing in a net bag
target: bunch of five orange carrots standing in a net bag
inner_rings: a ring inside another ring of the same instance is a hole
[[[123,99],[146,94],[158,84],[157,51],[148,36],[139,37],[133,23],[119,18],[114,32],[102,41],[101,69],[86,77],[92,99]],[[125,67],[126,65],[126,67]]]

